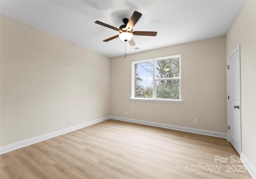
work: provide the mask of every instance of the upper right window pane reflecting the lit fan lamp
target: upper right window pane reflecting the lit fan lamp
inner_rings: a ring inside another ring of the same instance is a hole
[[[179,78],[180,58],[156,61],[156,78]]]

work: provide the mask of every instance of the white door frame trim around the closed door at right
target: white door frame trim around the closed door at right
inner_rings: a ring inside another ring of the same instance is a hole
[[[228,59],[234,55],[236,52],[238,52],[239,54],[239,92],[240,92],[240,104],[239,107],[240,107],[240,110],[239,110],[239,113],[240,113],[240,153],[239,155],[242,153],[242,106],[241,106],[241,51],[240,51],[240,45],[238,45],[227,57],[227,66],[229,65],[228,64]],[[228,92],[228,95],[230,95],[230,81],[229,81],[229,75],[230,73],[227,71],[227,92]],[[228,99],[227,97],[227,101],[228,101],[228,126],[231,125],[231,118],[230,118],[230,100]],[[231,135],[231,132],[230,130],[228,129],[228,141],[230,142],[230,135]]]

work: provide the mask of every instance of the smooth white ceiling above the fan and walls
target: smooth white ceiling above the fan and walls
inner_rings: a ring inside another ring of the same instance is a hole
[[[119,28],[136,10],[142,17],[134,31],[157,31],[156,37],[134,36],[127,54],[225,35],[245,1],[239,0],[132,0],[36,1],[1,0],[1,14],[108,57],[122,56],[125,42],[102,42],[119,32],[95,24],[96,20]],[[138,47],[139,50],[134,50]]]

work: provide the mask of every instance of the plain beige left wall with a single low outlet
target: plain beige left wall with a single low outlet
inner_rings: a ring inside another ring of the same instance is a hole
[[[1,16],[1,146],[109,115],[110,58]]]

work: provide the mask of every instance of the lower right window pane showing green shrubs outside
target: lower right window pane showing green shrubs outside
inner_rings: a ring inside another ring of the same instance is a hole
[[[156,80],[156,98],[179,99],[180,80]]]

